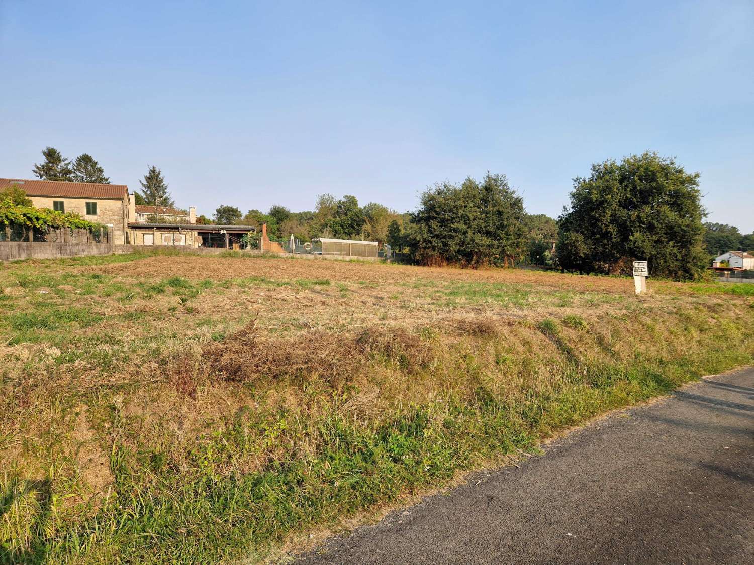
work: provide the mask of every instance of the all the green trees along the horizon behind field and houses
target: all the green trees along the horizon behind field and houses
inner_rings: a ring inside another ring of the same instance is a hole
[[[54,148],[34,172],[48,180],[109,182],[88,154],[71,162]],[[137,203],[173,206],[164,176],[149,166]],[[559,218],[526,213],[523,198],[502,174],[480,181],[440,182],[421,194],[415,212],[400,213],[379,203],[360,206],[357,198],[317,196],[313,211],[292,212],[275,205],[267,212],[221,205],[199,223],[259,228],[272,238],[315,237],[388,243],[421,264],[467,267],[549,265],[581,273],[626,274],[635,260],[650,272],[673,279],[697,279],[711,258],[729,250],[754,248],[754,234],[734,226],[704,222],[699,173],[687,173],[671,157],[654,151],[605,160],[589,176],[573,180],[569,205]]]

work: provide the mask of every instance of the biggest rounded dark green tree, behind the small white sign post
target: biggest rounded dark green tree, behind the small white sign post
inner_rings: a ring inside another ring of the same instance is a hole
[[[649,261],[651,275],[695,279],[706,267],[699,174],[647,151],[592,165],[574,179],[559,218],[558,261],[566,270],[630,273]]]

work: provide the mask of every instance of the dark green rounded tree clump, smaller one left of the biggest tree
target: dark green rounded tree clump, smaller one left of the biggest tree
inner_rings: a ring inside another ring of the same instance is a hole
[[[487,173],[462,185],[437,184],[412,215],[411,247],[424,263],[507,266],[526,252],[522,198],[504,175]]]

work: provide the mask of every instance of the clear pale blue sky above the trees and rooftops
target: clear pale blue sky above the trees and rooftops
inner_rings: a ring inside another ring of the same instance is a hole
[[[523,4],[529,4],[522,6]],[[176,203],[414,209],[505,173],[556,216],[590,164],[651,148],[754,231],[754,3],[0,0],[0,176],[84,151]]]

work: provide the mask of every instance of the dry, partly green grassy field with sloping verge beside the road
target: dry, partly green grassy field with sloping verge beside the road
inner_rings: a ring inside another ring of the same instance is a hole
[[[754,361],[754,285],[341,261],[0,264],[0,563],[255,562]]]

